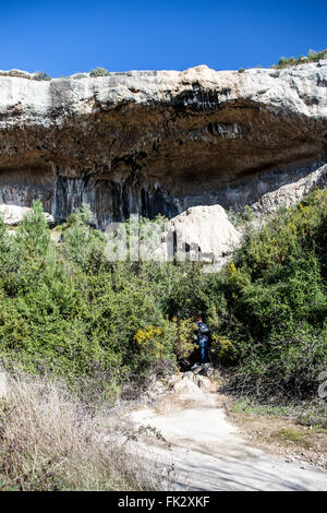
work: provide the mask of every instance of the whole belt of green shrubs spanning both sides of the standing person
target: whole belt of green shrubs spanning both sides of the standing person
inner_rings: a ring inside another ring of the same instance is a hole
[[[194,262],[108,262],[87,207],[57,228],[56,244],[35,202],[15,237],[0,222],[1,358],[72,386],[89,380],[113,401],[131,379],[141,385],[150,371],[190,365],[202,312],[233,390],[316,394],[327,349],[326,212],[327,191],[314,192],[249,229],[232,262],[206,274]]]

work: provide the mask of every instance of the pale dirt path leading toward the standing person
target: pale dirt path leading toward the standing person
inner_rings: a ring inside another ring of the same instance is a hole
[[[152,448],[148,456],[164,470],[173,466],[167,490],[327,490],[327,472],[251,446],[227,420],[217,393],[165,394],[131,417],[171,444]]]

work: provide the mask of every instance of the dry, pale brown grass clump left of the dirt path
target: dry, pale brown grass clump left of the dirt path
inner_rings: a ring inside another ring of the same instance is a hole
[[[154,490],[110,410],[92,413],[64,385],[9,375],[0,397],[0,490]],[[116,430],[112,426],[116,426]]]

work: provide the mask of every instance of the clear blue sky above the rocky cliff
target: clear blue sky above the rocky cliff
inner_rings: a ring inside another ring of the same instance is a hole
[[[327,47],[327,0],[0,0],[0,69],[268,67]]]

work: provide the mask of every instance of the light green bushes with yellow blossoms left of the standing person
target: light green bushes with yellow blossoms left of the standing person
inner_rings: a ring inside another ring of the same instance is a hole
[[[14,357],[31,372],[50,369],[72,382],[96,374],[119,383],[146,373],[156,360],[187,356],[192,321],[167,313],[173,305],[182,311],[181,299],[169,299],[169,277],[177,279],[177,270],[108,262],[106,238],[90,223],[88,208],[72,214],[56,246],[40,202],[15,237],[0,220],[2,358]]]

